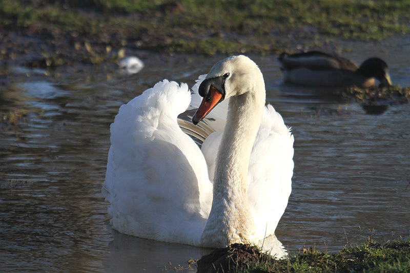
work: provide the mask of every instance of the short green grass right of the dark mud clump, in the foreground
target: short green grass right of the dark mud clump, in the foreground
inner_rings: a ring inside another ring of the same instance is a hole
[[[316,248],[291,254],[275,261],[265,258],[247,272],[409,272],[410,240],[388,241],[384,245],[366,242],[346,246],[338,253],[326,253]]]

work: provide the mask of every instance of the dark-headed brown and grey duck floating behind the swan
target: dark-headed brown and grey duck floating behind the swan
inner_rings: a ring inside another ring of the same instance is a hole
[[[384,60],[373,57],[359,67],[353,61],[321,51],[309,51],[278,57],[285,82],[304,86],[368,88],[391,86],[392,81]]]

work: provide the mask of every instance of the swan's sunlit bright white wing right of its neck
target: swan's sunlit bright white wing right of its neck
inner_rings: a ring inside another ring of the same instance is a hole
[[[258,238],[274,234],[292,190],[293,142],[290,129],[275,109],[265,107],[253,145],[248,198]]]

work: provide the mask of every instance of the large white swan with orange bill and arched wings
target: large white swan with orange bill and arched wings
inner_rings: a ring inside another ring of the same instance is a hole
[[[274,234],[288,203],[293,136],[273,107],[264,106],[263,76],[250,58],[217,62],[193,89],[198,86],[204,98],[193,122],[209,113],[216,131],[203,154],[177,124],[191,101],[186,84],[163,80],[120,107],[103,186],[111,225],[128,235],[196,246],[260,244]],[[199,103],[196,94],[192,103]],[[213,183],[206,160],[216,166]]]

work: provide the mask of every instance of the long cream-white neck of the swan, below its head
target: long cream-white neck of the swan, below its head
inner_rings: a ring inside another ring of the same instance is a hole
[[[217,155],[211,212],[201,236],[208,247],[254,239],[248,202],[249,160],[265,103],[263,77],[253,90],[230,98],[226,127]]]

